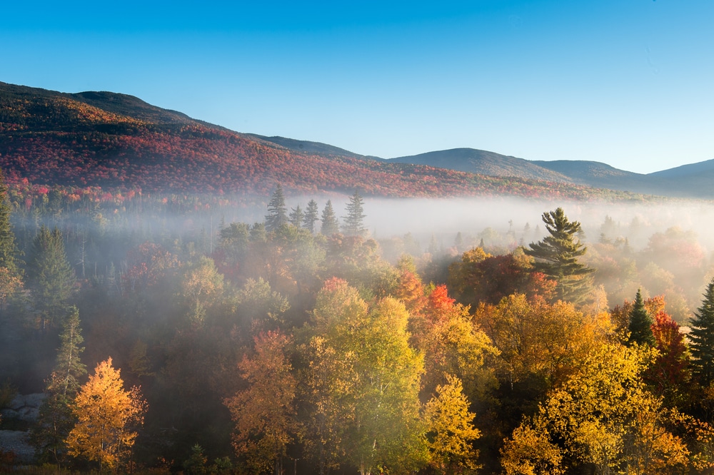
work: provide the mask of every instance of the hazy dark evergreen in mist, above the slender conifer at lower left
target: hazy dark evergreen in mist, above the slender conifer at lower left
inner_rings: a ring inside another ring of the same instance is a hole
[[[50,231],[41,226],[32,242],[28,265],[28,283],[41,330],[66,312],[74,282],[74,271],[67,260],[61,231],[57,228]]]

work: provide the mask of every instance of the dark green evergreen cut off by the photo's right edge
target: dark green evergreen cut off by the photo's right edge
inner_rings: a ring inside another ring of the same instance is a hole
[[[690,347],[694,374],[702,386],[714,381],[714,279],[704,292],[702,306],[690,323]]]

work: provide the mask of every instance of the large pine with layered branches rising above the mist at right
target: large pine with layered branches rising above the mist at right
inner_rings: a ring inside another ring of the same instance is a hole
[[[577,239],[582,232],[578,221],[569,221],[563,208],[543,213],[543,223],[549,236],[539,242],[531,242],[526,255],[535,257],[535,270],[553,277],[558,285],[555,295],[559,300],[567,300],[577,305],[582,302],[590,287],[590,273],[593,269],[578,262],[587,247]]]

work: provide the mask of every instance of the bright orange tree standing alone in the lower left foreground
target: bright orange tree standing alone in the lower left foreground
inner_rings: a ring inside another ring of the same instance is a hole
[[[111,358],[96,365],[94,374],[74,399],[77,422],[67,436],[72,456],[99,462],[99,470],[113,469],[129,454],[136,439],[134,427],[144,423],[146,402],[139,387],[124,389]]]

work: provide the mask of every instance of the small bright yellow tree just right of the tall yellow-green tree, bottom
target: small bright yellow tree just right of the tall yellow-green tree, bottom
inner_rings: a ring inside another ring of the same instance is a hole
[[[471,446],[481,436],[481,431],[473,427],[476,414],[468,410],[461,380],[451,374],[446,380],[426,403],[431,465],[442,474],[458,473],[460,467],[476,470],[478,451]]]

